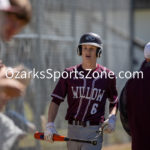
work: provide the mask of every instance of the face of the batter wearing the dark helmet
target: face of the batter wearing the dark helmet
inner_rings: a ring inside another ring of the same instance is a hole
[[[82,59],[83,62],[94,63],[97,60],[96,57],[97,47],[93,45],[82,45]]]

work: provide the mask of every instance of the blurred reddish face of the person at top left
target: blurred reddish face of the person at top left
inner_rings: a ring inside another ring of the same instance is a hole
[[[14,14],[5,14],[1,28],[1,37],[5,41],[9,41],[12,36],[17,34],[25,25],[23,20],[20,20]]]

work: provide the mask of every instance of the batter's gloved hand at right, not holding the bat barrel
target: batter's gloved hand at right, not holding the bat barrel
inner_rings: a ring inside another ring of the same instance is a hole
[[[113,131],[115,131],[115,127],[116,127],[116,116],[110,114],[108,119],[104,121],[104,123],[102,124],[102,128],[104,133],[112,133]]]

